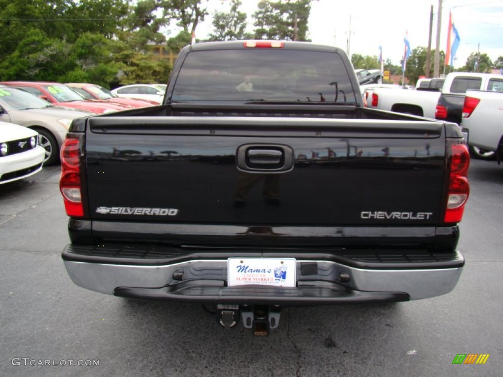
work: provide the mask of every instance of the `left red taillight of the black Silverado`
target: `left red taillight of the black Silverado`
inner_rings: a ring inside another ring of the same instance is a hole
[[[61,146],[61,177],[59,190],[63,195],[68,216],[83,216],[84,209],[80,191],[80,138],[68,134]]]

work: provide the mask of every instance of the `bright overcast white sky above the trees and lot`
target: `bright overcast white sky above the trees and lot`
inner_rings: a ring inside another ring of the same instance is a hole
[[[253,30],[251,15],[258,0],[241,0],[241,12],[248,15],[248,29]],[[205,39],[211,33],[211,15],[229,7],[221,0],[209,0],[210,16],[198,25],[196,38]],[[349,55],[379,55],[400,64],[405,34],[411,49],[427,47],[430,12],[433,5],[432,49],[437,39],[439,0],[318,0],[311,7],[309,38],[314,43],[335,45]],[[460,44],[454,68],[465,65],[472,52],[486,53],[494,61],[503,56],[503,0],[443,0],[440,28],[440,50],[447,50],[449,12],[452,13]],[[440,63],[443,66],[443,62]]]

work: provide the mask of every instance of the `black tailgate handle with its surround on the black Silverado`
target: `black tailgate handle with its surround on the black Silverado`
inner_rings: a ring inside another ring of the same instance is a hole
[[[294,152],[288,145],[244,144],[237,148],[237,168],[249,172],[287,172],[293,169]]]

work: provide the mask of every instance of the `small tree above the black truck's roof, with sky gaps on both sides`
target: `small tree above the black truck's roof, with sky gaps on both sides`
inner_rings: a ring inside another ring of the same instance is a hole
[[[246,33],[246,13],[239,12],[241,2],[231,0],[230,12],[215,12],[213,14],[213,33],[211,41],[231,41],[248,39]]]

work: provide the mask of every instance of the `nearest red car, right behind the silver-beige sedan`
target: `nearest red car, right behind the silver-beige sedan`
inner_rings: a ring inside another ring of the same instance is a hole
[[[45,81],[4,81],[4,85],[24,89],[54,106],[90,111],[96,114],[132,109],[132,106],[114,104],[107,101],[85,100],[70,87],[58,82]]]

